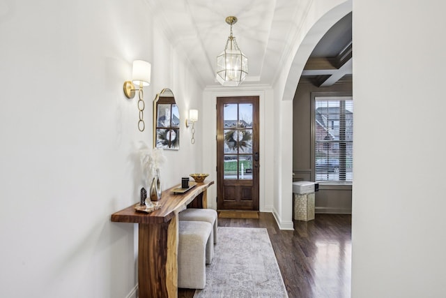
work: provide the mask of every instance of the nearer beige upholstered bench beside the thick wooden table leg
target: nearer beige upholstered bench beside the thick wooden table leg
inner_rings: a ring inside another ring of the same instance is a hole
[[[204,221],[178,221],[178,288],[204,288],[206,246],[213,247],[212,232],[212,225]]]

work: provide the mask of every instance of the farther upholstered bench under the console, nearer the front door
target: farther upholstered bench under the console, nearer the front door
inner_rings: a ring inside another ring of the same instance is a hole
[[[214,209],[195,209],[188,208],[178,214],[179,221],[204,221],[213,225],[213,231],[210,237],[213,238],[213,243],[217,243],[217,211]],[[212,262],[214,256],[213,246],[206,247],[206,264]]]

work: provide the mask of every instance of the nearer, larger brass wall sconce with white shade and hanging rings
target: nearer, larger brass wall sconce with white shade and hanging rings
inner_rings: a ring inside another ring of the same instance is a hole
[[[124,94],[127,98],[134,98],[134,91],[138,91],[138,110],[139,110],[139,121],[138,121],[138,129],[139,131],[144,131],[146,128],[146,124],[144,124],[144,100],[143,100],[143,91],[142,88],[149,86],[151,84],[151,64],[142,61],[135,60],[133,61],[132,67],[132,81],[124,82]],[[139,89],[135,89],[134,85],[137,84]]]

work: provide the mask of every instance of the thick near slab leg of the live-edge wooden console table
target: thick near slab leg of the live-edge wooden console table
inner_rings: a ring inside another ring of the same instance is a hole
[[[139,298],[178,297],[178,216],[139,223]]]

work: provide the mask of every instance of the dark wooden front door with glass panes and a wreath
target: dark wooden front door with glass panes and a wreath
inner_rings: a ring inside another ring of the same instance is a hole
[[[217,97],[217,209],[259,211],[259,96]]]

